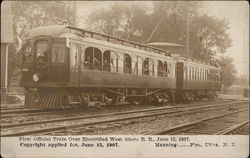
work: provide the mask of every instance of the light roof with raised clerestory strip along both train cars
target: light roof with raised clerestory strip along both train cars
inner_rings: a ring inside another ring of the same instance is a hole
[[[109,36],[109,35],[102,34],[102,33],[93,32],[93,31],[89,31],[89,30],[85,30],[85,29],[81,29],[81,28],[76,28],[76,27],[72,27],[72,26],[50,25],[50,26],[37,27],[30,32],[29,38],[34,38],[34,37],[38,37],[38,36],[59,37],[63,33],[73,33],[77,36],[91,37],[91,38],[95,38],[98,40],[104,40],[104,41],[111,42],[111,43],[113,43],[112,42],[113,40],[116,40],[119,42],[120,45],[124,45],[124,46],[128,46],[128,47],[132,46],[132,47],[137,48],[137,49],[151,51],[151,52],[154,52],[157,54],[162,54],[165,56],[171,56],[171,53],[169,53],[163,49],[155,48],[153,46],[149,46],[146,44],[136,43],[136,42],[132,42],[129,40]],[[97,37],[97,36],[99,36],[99,37]],[[180,46],[182,46],[182,45],[180,45]],[[198,62],[198,63],[210,65],[210,66],[215,66],[218,68],[218,66],[216,66],[208,61],[205,61],[205,60],[193,58],[190,56],[183,56],[183,55],[181,55],[180,57],[184,58],[186,60],[190,60],[193,62]]]

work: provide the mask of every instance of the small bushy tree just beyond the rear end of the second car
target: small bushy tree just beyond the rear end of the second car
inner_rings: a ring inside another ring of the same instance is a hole
[[[225,88],[230,87],[236,79],[236,69],[233,64],[233,58],[222,56],[217,60],[222,68],[222,83]]]

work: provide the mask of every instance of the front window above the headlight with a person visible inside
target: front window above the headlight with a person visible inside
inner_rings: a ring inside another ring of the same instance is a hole
[[[47,61],[48,47],[49,45],[47,41],[38,41],[36,43],[36,61],[38,63],[43,63]]]

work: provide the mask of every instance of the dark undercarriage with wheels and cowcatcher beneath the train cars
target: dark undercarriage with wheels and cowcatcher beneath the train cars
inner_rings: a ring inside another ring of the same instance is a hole
[[[135,89],[135,88],[26,88],[25,106],[58,109],[71,106],[115,104],[163,104],[214,100],[215,90]]]

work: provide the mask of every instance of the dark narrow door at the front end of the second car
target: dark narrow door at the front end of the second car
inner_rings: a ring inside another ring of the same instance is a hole
[[[182,89],[184,86],[184,63],[177,62],[176,64],[176,88]]]

